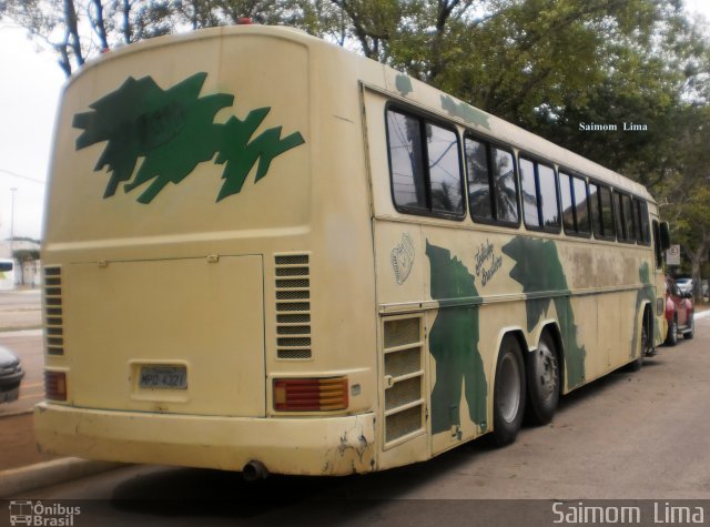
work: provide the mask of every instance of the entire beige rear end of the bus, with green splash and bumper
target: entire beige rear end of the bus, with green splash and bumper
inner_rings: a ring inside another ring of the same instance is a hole
[[[71,79],[42,254],[43,450],[375,467],[369,203],[337,57],[293,30],[221,28]]]

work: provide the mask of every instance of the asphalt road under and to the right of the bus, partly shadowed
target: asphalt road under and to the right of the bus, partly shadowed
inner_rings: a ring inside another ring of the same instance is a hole
[[[454,510],[470,514],[467,500],[481,498],[547,500],[538,511],[542,524],[528,521],[534,511],[515,501],[479,504],[476,514],[495,519],[488,525],[516,525],[521,514],[529,525],[545,525],[550,500],[608,498],[702,499],[708,520],[708,378],[710,318],[703,318],[694,339],[659,348],[641,372],[620,371],[576,391],[551,425],[524,428],[507,448],[478,440],[379,474],[255,484],[233,473],[129,466],[23,497],[99,500],[80,503],[94,507],[102,525],[432,525],[456,520]]]

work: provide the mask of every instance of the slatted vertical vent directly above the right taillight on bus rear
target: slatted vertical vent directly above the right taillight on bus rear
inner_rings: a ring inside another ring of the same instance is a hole
[[[274,256],[276,275],[276,357],[308,359],[311,351],[311,267],[308,254]]]

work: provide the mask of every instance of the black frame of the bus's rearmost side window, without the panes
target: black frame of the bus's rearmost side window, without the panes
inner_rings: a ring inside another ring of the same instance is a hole
[[[422,160],[425,166],[424,168],[424,190],[426,192],[426,209],[400,205],[397,203],[395,199],[395,186],[394,186],[394,179],[393,179],[394,174],[392,170],[392,145],[389,142],[389,121],[388,121],[389,112],[398,113],[400,115],[405,115],[407,118],[418,120],[419,141],[420,141],[419,146],[422,148]],[[385,104],[384,123],[385,123],[385,140],[386,140],[386,149],[387,149],[387,170],[389,172],[389,197],[392,200],[392,204],[394,205],[395,210],[402,214],[410,214],[410,215],[417,215],[417,216],[424,216],[424,217],[437,217],[437,219],[452,220],[452,221],[458,221],[458,222],[463,222],[464,220],[466,220],[466,216],[468,214],[468,211],[467,211],[468,188],[466,186],[467,180],[466,180],[466,172],[464,166],[464,155],[463,155],[464,151],[463,151],[462,134],[459,133],[458,128],[454,123],[447,122],[446,120],[437,115],[430,114],[428,112],[419,111],[419,110],[413,110],[409,107],[406,107],[404,104],[393,102],[393,101],[388,101]],[[462,204],[463,204],[463,211],[460,214],[453,213],[453,212],[444,212],[444,211],[435,210],[433,207],[432,176],[430,176],[430,170],[429,170],[429,152],[427,148],[426,133],[425,133],[426,124],[433,124],[443,130],[453,132],[454,135],[456,136],[458,175],[459,175],[458,182],[459,182],[459,188],[462,193],[460,194]]]

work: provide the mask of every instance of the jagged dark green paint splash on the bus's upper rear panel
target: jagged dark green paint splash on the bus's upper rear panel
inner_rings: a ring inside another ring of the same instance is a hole
[[[244,121],[232,116],[224,124],[215,123],[216,113],[231,107],[234,95],[200,97],[206,77],[196,73],[168,90],[150,77],[131,77],[90,104],[92,111],[74,115],[73,126],[83,130],[77,150],[106,142],[94,166],[97,171],[108,166],[111,172],[104,199],[112,196],[122,182],[126,182],[126,193],[150,182],[138,197],[141,203],[150,203],[168,183],[180,183],[199,163],[217,153],[215,162],[225,164],[220,201],[242,190],[257,161],[255,182],[266,175],[274,158],[304,143],[298,132],[281,139],[281,126],[251,140],[270,108],[251,111]],[[143,162],[130,181],[139,158],[144,158]]]

